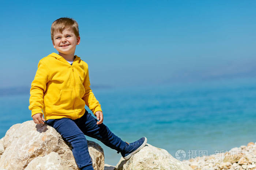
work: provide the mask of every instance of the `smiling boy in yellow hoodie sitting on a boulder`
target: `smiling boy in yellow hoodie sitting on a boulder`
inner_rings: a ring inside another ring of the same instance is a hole
[[[88,65],[74,56],[80,43],[78,24],[70,18],[57,19],[51,27],[51,38],[59,54],[52,53],[38,63],[30,89],[29,109],[34,122],[45,121],[71,144],[81,170],[93,170],[84,135],[98,139],[129,159],[146,145],[147,138],[129,144],[102,123],[101,105],[90,88]],[[85,110],[85,104],[98,120]]]

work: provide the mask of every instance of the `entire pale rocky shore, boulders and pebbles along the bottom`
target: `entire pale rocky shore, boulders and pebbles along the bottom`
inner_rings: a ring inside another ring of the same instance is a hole
[[[104,165],[103,149],[88,141],[95,170],[256,170],[256,143],[240,146],[225,153],[178,161],[166,150],[147,144],[129,160],[116,166]],[[33,120],[14,124],[0,139],[0,170],[78,170],[71,146],[57,131]]]

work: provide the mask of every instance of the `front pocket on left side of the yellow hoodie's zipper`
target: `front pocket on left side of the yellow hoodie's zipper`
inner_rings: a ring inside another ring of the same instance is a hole
[[[74,90],[72,88],[61,89],[60,95],[53,104],[56,112],[72,112],[74,104]]]

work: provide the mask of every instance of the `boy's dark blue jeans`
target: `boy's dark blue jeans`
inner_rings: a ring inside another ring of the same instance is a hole
[[[124,150],[126,146],[126,143],[114,135],[105,124],[96,124],[97,119],[87,111],[79,119],[48,119],[46,123],[56,129],[65,141],[71,144],[76,164],[81,170],[93,168],[84,135],[96,138],[118,152]]]

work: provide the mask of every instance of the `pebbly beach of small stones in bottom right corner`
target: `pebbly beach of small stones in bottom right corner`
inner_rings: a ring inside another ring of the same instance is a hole
[[[235,147],[225,153],[184,160],[194,170],[253,170],[256,169],[256,143]]]

